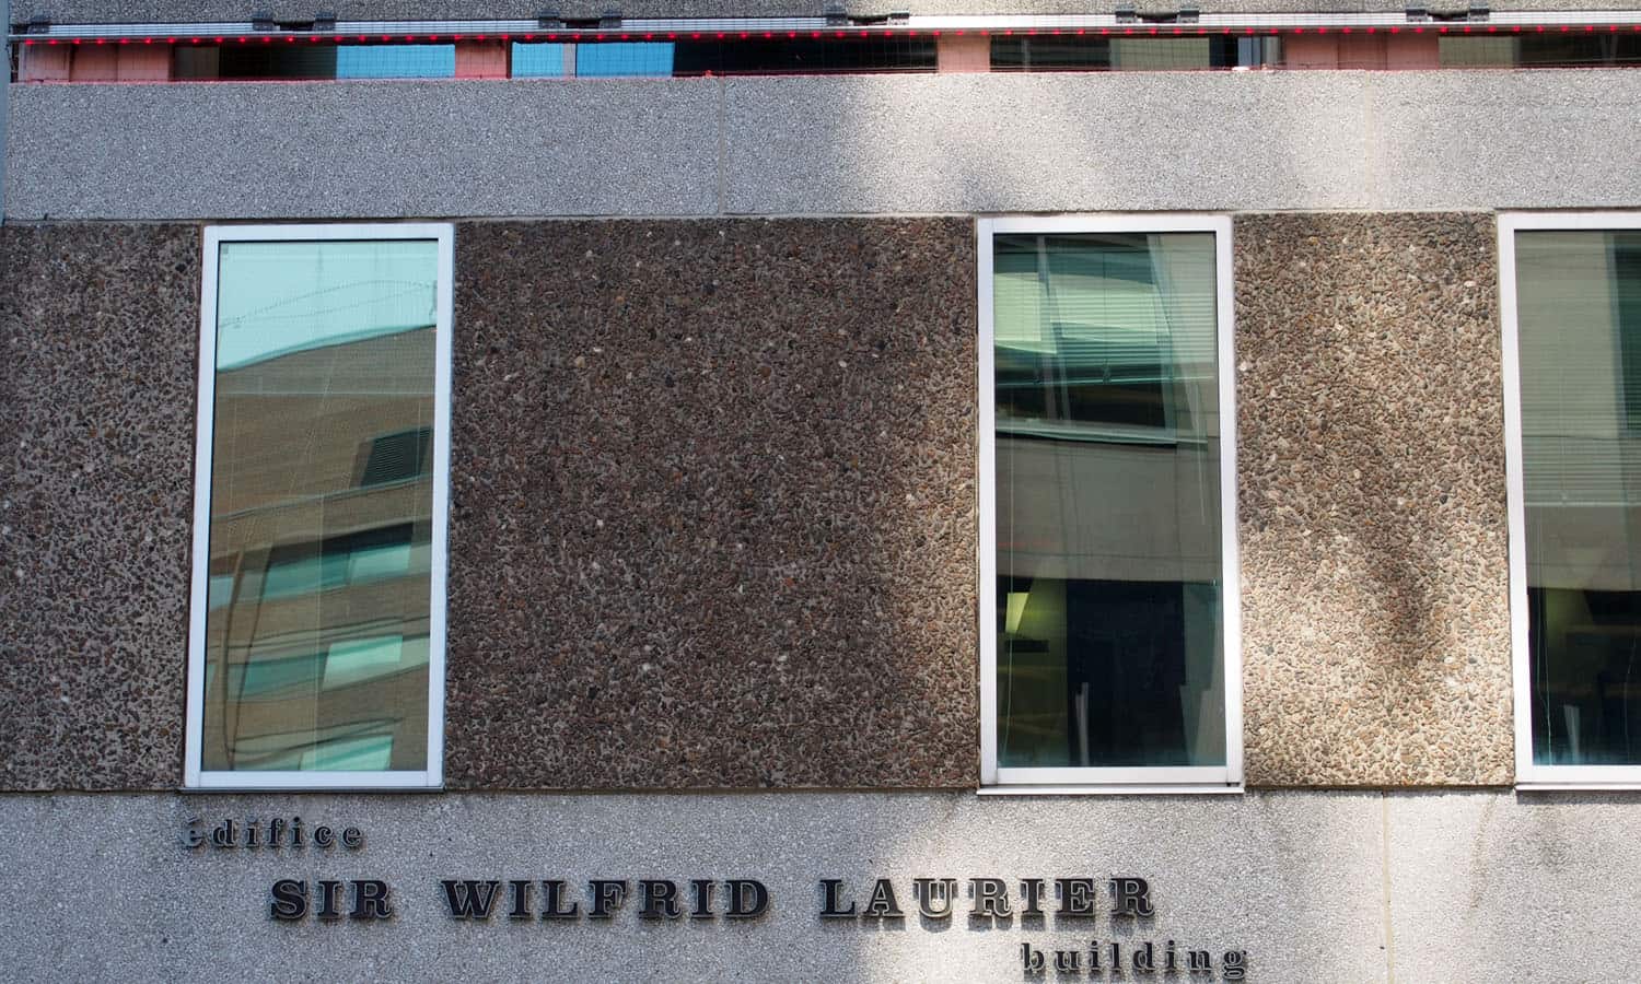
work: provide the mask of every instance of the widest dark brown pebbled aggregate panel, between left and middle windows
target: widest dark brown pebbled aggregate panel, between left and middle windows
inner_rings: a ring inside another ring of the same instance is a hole
[[[962,220],[456,233],[446,781],[978,781]]]

